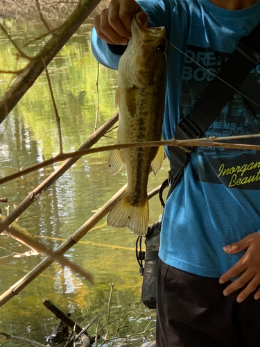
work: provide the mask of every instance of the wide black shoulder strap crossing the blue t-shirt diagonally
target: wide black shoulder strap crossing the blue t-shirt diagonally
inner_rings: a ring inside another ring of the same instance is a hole
[[[210,124],[216,119],[227,101],[237,90],[245,77],[260,62],[260,23],[248,36],[244,36],[237,44],[218,73],[202,92],[191,113],[177,124],[175,139],[195,139],[202,137]],[[189,162],[189,154],[179,147],[168,147],[171,171],[169,184],[171,194],[182,177],[184,167]],[[162,192],[160,194],[162,197]],[[161,200],[162,201],[162,200]]]

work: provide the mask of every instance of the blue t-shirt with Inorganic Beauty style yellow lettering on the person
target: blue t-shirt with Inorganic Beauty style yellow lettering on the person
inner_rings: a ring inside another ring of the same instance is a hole
[[[168,40],[164,139],[234,51],[239,39],[260,22],[260,1],[243,10],[219,8],[209,0],[138,1],[149,26],[165,26]],[[176,46],[177,49],[175,49]],[[184,56],[185,52],[196,62]],[[112,53],[96,32],[92,51],[103,65],[117,68]],[[260,65],[241,92],[260,103]],[[234,93],[206,136],[260,133],[260,107]],[[257,142],[257,140],[254,140]],[[168,198],[162,221],[159,257],[177,269],[219,277],[243,255],[227,255],[223,246],[260,228],[260,153],[200,147],[191,155],[184,177]]]

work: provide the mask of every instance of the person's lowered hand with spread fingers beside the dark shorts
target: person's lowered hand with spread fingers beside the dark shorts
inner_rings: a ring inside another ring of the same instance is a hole
[[[232,284],[225,288],[223,294],[228,296],[234,291],[245,287],[237,296],[236,301],[241,303],[255,291],[260,285],[260,235],[258,232],[248,235],[241,241],[224,247],[224,251],[230,255],[239,253],[247,248],[247,251],[231,269],[224,273],[220,284],[239,276]],[[260,288],[254,293],[254,298],[260,298]]]

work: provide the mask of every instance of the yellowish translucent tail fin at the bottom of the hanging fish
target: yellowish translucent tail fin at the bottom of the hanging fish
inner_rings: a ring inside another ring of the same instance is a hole
[[[124,196],[114,205],[107,216],[107,225],[114,228],[130,228],[135,234],[147,234],[149,220],[148,198],[144,205],[133,206],[125,201]]]

